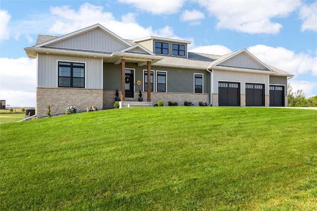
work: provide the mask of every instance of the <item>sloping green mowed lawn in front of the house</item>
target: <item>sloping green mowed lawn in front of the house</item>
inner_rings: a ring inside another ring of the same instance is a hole
[[[0,210],[317,210],[315,110],[127,108],[0,127]]]

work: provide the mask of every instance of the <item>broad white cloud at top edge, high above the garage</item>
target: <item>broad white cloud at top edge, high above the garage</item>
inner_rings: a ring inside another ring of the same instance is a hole
[[[301,5],[287,0],[203,0],[211,15],[218,19],[217,29],[230,29],[250,34],[277,34],[282,25],[272,18],[285,17]]]

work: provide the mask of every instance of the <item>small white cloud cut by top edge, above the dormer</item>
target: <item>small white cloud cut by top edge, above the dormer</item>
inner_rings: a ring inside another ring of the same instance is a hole
[[[132,4],[141,11],[160,15],[177,13],[185,0],[119,0],[119,2]]]

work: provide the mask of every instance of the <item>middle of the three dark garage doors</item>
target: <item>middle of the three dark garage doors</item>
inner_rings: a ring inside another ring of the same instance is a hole
[[[246,106],[264,106],[264,84],[246,84]]]

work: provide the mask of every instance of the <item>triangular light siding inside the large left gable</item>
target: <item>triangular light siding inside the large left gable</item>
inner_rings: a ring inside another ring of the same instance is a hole
[[[90,30],[48,46],[106,52],[116,52],[129,47],[100,29]]]

